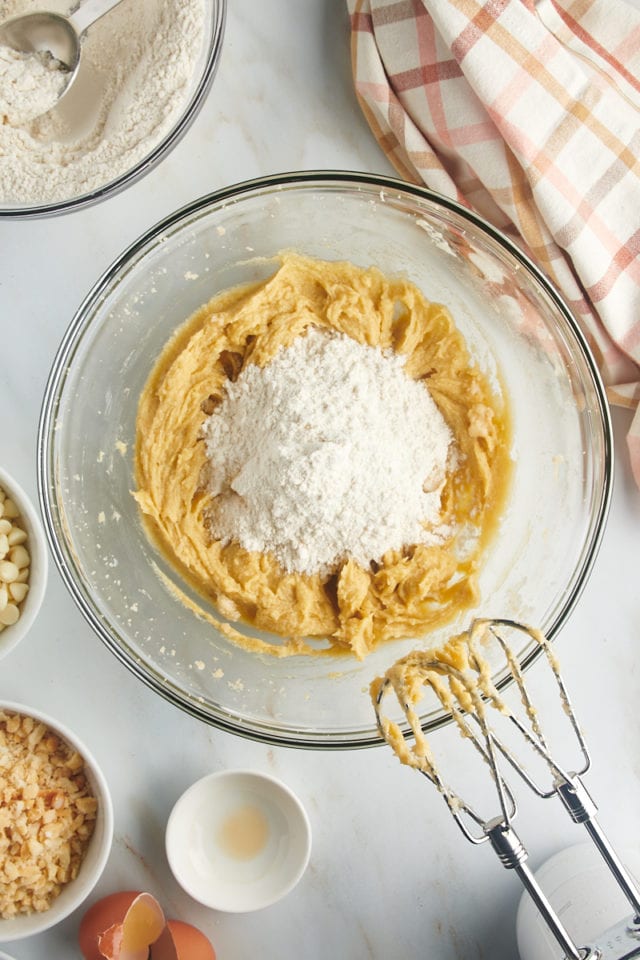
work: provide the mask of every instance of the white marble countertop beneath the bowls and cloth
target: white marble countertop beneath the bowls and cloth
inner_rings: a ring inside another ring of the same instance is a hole
[[[161,166],[71,216],[0,221],[0,459],[36,499],[36,430],[50,364],[84,294],[148,226],[223,185],[294,169],[393,173],[357,105],[343,0],[231,0],[202,113]],[[616,479],[592,575],[557,652],[593,753],[587,783],[622,852],[640,809],[640,493],[626,464],[630,417],[614,413]],[[251,956],[513,960],[521,888],[459,834],[442,800],[389,750],[305,752],[242,740],[162,701],[102,646],[51,565],[42,612],[0,665],[0,695],[38,706],[90,744],[111,785],[115,840],[96,893],[139,887],[198,925],[219,960]],[[535,668],[534,668],[535,669]],[[439,735],[446,735],[446,732]],[[283,779],[313,830],[310,865],[273,907],[227,915],[173,880],[164,826],[208,771]],[[518,829],[536,867],[582,839],[552,801],[526,801]],[[79,957],[80,911],[9,947],[18,960]]]

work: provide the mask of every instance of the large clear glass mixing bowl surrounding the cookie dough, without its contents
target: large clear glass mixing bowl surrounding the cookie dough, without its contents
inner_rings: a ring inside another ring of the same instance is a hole
[[[232,186],[154,226],[98,280],[59,348],[40,422],[41,505],[74,599],[133,673],[202,720],[273,743],[372,745],[369,683],[415,638],[364,662],[240,649],[177,599],[183,591],[215,613],[150,543],[131,495],[138,398],[162,347],[215,293],[271,273],[284,249],[407,275],[451,308],[509,395],[513,480],[481,600],[420,646],[472,616],[557,633],[603,532],[611,424],[584,339],[543,275],[469,211],[400,181],[309,172]],[[525,664],[534,655],[517,652]],[[428,699],[422,719],[428,729],[446,721]]]

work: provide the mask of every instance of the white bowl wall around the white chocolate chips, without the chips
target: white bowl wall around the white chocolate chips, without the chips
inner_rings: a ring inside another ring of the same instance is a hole
[[[29,568],[29,592],[20,605],[20,618],[5,627],[0,633],[0,659],[20,643],[31,629],[42,606],[47,586],[49,555],[40,516],[20,484],[11,474],[0,467],[0,487],[13,500],[20,513],[21,525],[27,532],[26,547],[31,563]]]

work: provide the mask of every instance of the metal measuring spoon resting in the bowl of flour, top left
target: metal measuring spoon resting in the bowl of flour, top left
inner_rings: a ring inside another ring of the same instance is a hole
[[[59,97],[69,89],[80,66],[82,38],[92,24],[122,0],[85,0],[69,16],[39,12],[20,14],[0,23],[0,46],[23,54],[50,53],[68,71]]]

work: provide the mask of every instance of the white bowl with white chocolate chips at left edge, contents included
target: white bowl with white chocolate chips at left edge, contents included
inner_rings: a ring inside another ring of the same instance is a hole
[[[40,517],[0,467],[0,658],[22,640],[42,604],[48,554]]]

